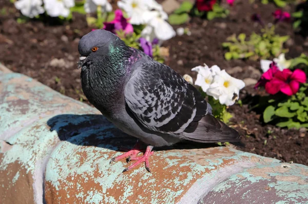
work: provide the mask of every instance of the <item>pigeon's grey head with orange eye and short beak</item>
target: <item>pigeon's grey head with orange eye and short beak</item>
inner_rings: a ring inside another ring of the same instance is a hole
[[[120,38],[104,29],[93,30],[84,35],[78,44],[80,58],[78,69],[91,63],[94,58],[108,55],[110,44],[121,42]]]

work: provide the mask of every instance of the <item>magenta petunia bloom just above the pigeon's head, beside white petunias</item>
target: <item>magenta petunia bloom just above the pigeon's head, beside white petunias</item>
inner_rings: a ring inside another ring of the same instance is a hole
[[[115,17],[113,21],[104,23],[104,29],[108,30],[114,34],[117,34],[116,31],[123,30],[126,34],[133,32],[133,27],[129,24],[123,16],[123,13],[120,9],[114,11]]]

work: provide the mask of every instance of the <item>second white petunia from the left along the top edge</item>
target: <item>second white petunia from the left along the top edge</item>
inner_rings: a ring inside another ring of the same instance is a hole
[[[75,6],[74,0],[44,0],[44,7],[51,17],[67,17],[70,8]]]

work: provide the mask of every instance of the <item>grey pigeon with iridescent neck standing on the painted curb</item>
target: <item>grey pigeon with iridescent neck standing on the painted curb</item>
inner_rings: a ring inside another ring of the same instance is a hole
[[[79,42],[81,84],[89,102],[115,127],[148,145],[143,156],[140,142],[114,157],[145,162],[153,147],[180,141],[238,142],[239,134],[211,114],[201,93],[170,67],[141,50],[128,47],[117,35],[93,30]],[[111,162],[110,161],[110,162]]]

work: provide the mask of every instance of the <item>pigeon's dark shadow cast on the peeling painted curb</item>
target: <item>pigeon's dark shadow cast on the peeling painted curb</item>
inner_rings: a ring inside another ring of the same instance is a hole
[[[118,128],[115,128],[103,115],[56,115],[47,121],[50,131],[56,131],[59,139],[79,146],[95,146],[114,151],[130,150],[137,142]],[[146,145],[144,145],[145,149]],[[183,140],[169,147],[156,147],[155,151],[169,149],[203,149],[219,147],[217,144],[202,144]]]

